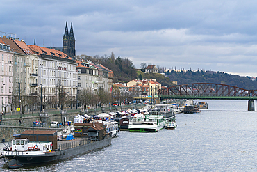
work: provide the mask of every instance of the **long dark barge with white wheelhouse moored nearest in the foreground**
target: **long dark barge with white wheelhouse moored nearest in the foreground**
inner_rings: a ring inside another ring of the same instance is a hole
[[[57,141],[56,130],[26,130],[21,134],[16,134],[15,139],[8,143],[6,148],[1,149],[1,154],[6,159],[9,168],[17,168],[26,164],[41,164],[66,159],[110,145],[111,137],[105,134],[101,126],[92,125],[88,128],[88,132],[90,138]]]

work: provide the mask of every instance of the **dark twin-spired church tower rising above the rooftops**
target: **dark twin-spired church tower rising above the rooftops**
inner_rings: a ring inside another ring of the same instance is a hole
[[[73,59],[76,59],[75,51],[75,36],[73,33],[73,28],[71,26],[70,31],[68,30],[68,24],[66,22],[65,33],[63,35],[63,53],[67,54]]]

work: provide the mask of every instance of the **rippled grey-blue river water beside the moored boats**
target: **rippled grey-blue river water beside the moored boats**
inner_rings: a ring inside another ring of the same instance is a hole
[[[257,111],[247,100],[206,102],[199,114],[178,114],[176,130],[122,131],[106,148],[22,171],[257,171]]]

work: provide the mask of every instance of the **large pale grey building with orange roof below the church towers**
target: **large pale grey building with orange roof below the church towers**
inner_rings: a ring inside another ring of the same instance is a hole
[[[38,56],[38,92],[46,95],[48,102],[44,108],[60,107],[56,97],[69,97],[70,102],[76,101],[77,72],[76,61],[63,52],[36,45],[30,45]],[[60,95],[60,89],[61,94]]]

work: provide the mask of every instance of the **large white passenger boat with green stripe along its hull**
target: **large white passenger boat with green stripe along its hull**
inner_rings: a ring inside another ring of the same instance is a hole
[[[158,111],[150,111],[149,114],[142,114],[133,118],[129,125],[129,132],[158,132],[163,129],[166,118]]]

